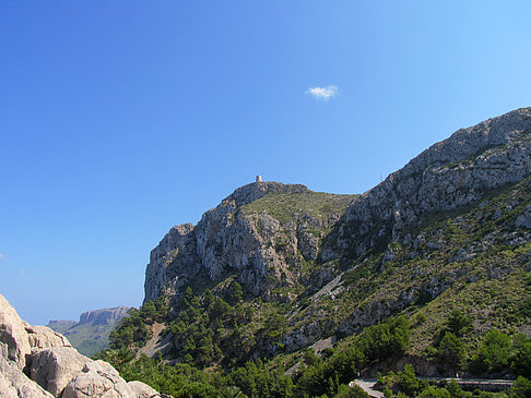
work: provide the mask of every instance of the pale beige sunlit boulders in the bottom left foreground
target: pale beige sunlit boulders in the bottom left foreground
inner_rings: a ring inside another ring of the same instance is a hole
[[[127,383],[104,361],[79,353],[46,326],[31,326],[0,294],[0,397],[154,398],[140,382]]]

